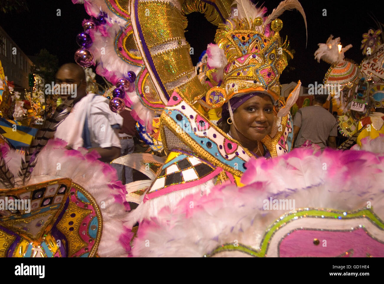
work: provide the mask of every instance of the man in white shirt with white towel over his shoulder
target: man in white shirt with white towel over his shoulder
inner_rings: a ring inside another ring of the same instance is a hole
[[[89,152],[96,150],[101,155],[99,160],[103,162],[118,158],[121,144],[117,132],[123,119],[109,109],[107,98],[86,93],[83,68],[75,63],[64,64],[56,73],[56,84],[61,85],[60,97],[63,101],[71,96],[70,86],[75,94],[74,107],[56,129],[55,137],[68,142],[68,147],[72,149],[84,147]]]

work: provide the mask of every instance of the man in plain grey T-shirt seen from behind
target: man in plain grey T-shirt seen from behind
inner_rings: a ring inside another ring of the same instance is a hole
[[[312,105],[296,112],[293,120],[295,147],[300,147],[306,140],[320,146],[323,151],[328,146],[336,149],[337,121],[323,108],[328,95],[314,95]]]

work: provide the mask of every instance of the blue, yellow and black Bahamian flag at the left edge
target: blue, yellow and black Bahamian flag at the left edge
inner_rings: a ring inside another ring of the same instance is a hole
[[[26,149],[29,148],[37,129],[18,125],[16,121],[0,117],[0,133],[16,149]]]

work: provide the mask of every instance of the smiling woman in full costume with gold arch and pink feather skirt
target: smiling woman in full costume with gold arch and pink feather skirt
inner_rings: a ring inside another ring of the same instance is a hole
[[[263,17],[265,9],[237,1],[229,19],[232,3],[205,3],[201,12],[219,25],[218,46],[207,49],[207,85],[194,72],[184,38],[183,17],[200,12],[199,3],[84,3],[96,22],[87,48],[97,70],[125,91],[116,91],[111,108],[132,109],[146,136],[161,142],[167,154],[165,160],[133,154],[114,161],[151,177],[126,186],[127,200],[139,204],[125,224],[140,222],[133,256],[382,256],[381,154],[290,152],[289,108],[300,83],[286,102],[280,97],[278,77],[289,52],[276,17],[291,8],[303,12],[301,5],[283,1]],[[259,101],[247,109],[253,98],[263,100],[265,108]],[[221,129],[207,118],[209,112],[197,110],[199,105],[223,109]],[[258,115],[244,123],[243,111]],[[380,152],[376,143],[366,147]],[[268,152],[273,159],[253,159]]]

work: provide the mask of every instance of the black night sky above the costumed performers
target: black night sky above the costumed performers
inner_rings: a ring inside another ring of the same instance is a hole
[[[371,1],[300,1],[304,8],[308,23],[308,44],[305,46],[305,25],[299,12],[286,11],[279,18],[283,20],[280,35],[285,39],[288,35],[291,48],[295,49],[294,59],[290,66],[295,70],[284,71],[280,83],[290,83],[301,80],[304,86],[321,82],[329,65],[317,63],[313,53],[318,43],[325,43],[330,34],[341,37],[343,46],[351,43],[353,47],[345,54],[346,58],[360,63],[363,56],[360,51],[362,33],[369,28],[377,29],[374,16],[384,23],[384,4],[382,0]],[[276,8],[279,0],[265,2],[267,15]],[[77,33],[82,31],[81,22],[89,18],[80,4],[74,5],[71,0],[59,1],[28,1],[29,12],[1,14],[0,25],[27,54],[35,55],[41,48],[46,48],[59,58],[60,65],[74,62],[73,54],[78,49],[75,42]],[[56,16],[56,10],[61,9],[61,16]],[[323,9],[327,16],[324,17]],[[203,15],[193,13],[188,15],[189,25],[185,37],[194,47],[192,61],[197,63],[200,53],[207,44],[213,42],[216,27],[205,20]]]

